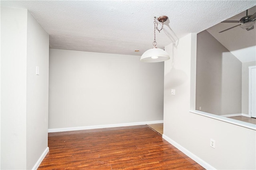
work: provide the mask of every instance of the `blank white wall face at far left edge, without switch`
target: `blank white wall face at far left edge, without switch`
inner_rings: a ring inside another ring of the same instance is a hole
[[[1,6],[1,169],[26,169],[27,10]]]

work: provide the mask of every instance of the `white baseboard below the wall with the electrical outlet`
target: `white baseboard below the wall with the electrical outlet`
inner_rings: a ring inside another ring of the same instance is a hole
[[[208,164],[207,162],[205,162],[204,160],[202,160],[201,158],[199,158],[198,156],[196,156],[195,154],[193,154],[192,152],[190,152],[189,150],[185,149],[184,147],[182,147],[180,144],[176,143],[175,141],[173,141],[172,139],[170,139],[169,137],[167,137],[166,135],[162,135],[163,139],[165,139],[167,142],[169,142],[170,144],[172,144],[174,147],[176,147],[178,150],[180,150],[181,152],[183,152],[184,154],[186,154],[188,157],[190,157],[191,159],[193,159],[194,161],[196,161],[198,164],[200,164],[202,167],[206,168],[207,170],[216,170],[216,168],[214,168],[213,166],[211,166],[210,164]]]

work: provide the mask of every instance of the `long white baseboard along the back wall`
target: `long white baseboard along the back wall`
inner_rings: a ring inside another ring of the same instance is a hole
[[[134,122],[134,123],[120,123],[120,124],[111,124],[111,125],[65,127],[65,128],[57,128],[57,129],[48,129],[48,133],[52,133],[52,132],[65,132],[65,131],[79,131],[79,130],[88,130],[88,129],[101,129],[101,128],[108,128],[108,127],[123,127],[123,126],[146,125],[146,124],[156,124],[156,123],[164,123],[164,121],[163,120],[158,120],[158,121],[142,121],[142,122]]]

